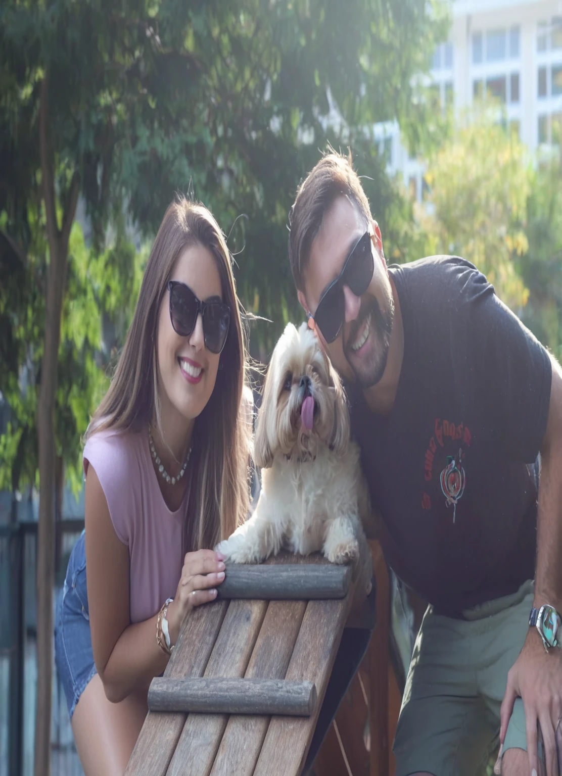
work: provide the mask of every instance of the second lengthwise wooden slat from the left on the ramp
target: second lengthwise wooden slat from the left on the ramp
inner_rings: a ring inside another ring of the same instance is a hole
[[[207,663],[206,677],[244,676],[266,608],[266,601],[231,601]],[[190,714],[168,776],[207,776],[227,719],[226,714]]]

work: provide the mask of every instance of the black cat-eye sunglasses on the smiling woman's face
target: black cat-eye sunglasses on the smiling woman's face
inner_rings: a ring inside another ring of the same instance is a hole
[[[220,353],[227,341],[231,323],[231,308],[220,300],[201,302],[193,291],[179,280],[168,282],[170,292],[170,320],[176,334],[189,337],[195,328],[199,313],[203,319],[205,347],[211,353]]]

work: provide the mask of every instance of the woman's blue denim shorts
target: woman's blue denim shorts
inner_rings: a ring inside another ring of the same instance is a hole
[[[96,673],[86,591],[84,532],[72,549],[64,587],[57,601],[54,659],[72,718],[78,699]]]

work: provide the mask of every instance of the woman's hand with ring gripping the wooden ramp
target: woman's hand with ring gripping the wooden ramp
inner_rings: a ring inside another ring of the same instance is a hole
[[[217,598],[217,585],[224,580],[224,557],[213,549],[198,549],[183,559],[182,577],[175,598],[168,606],[172,644],[178,640],[182,622],[196,606]]]

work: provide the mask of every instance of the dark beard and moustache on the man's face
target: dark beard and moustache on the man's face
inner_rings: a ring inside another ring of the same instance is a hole
[[[367,317],[371,316],[369,324],[369,338],[371,346],[374,344],[374,352],[369,354],[366,359],[358,364],[354,352],[349,346],[350,342],[355,342],[359,330],[363,327]],[[394,299],[390,294],[388,307],[384,312],[380,309],[379,301],[375,296],[371,296],[359,312],[359,317],[354,320],[349,331],[349,336],[345,342],[344,355],[356,376],[357,384],[365,389],[376,385],[382,378],[384,370],[387,368],[388,350],[390,348],[390,333],[394,323]],[[371,339],[372,338],[372,339]]]

